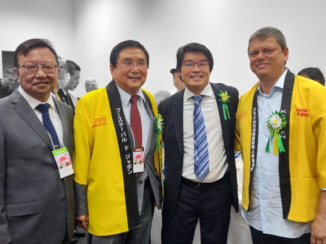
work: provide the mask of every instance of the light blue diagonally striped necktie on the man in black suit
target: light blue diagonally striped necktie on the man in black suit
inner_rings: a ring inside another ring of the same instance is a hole
[[[208,163],[208,143],[206,128],[200,103],[203,96],[194,96],[194,166],[195,174],[200,180],[203,180],[209,172]]]

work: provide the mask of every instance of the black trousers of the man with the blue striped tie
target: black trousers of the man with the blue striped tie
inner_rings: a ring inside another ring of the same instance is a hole
[[[228,173],[199,188],[182,182],[176,213],[171,221],[162,223],[162,244],[192,244],[198,218],[202,244],[226,244],[231,204]]]

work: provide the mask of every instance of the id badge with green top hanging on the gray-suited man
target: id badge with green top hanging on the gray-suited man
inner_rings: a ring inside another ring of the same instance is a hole
[[[71,159],[66,147],[53,150],[52,154],[59,169],[60,179],[73,174]]]

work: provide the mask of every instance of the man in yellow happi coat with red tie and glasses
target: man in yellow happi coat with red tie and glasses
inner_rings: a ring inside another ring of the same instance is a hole
[[[162,139],[154,98],[141,89],[148,64],[139,42],[117,44],[113,80],[77,104],[76,220],[88,229],[88,243],[150,242],[154,202],[162,205]]]

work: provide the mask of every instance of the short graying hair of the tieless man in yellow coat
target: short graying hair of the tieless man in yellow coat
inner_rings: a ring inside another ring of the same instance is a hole
[[[249,53],[249,46],[250,43],[253,39],[260,39],[260,40],[265,40],[268,37],[275,37],[277,43],[280,44],[282,52],[284,51],[284,49],[287,47],[287,42],[285,40],[285,37],[283,35],[283,33],[274,27],[264,27],[261,28],[257,31],[255,31],[249,38],[249,44],[248,44],[248,53]]]

